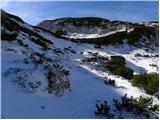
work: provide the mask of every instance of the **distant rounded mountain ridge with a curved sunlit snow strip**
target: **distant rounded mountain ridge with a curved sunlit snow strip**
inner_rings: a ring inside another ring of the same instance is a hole
[[[147,36],[151,40],[151,36],[155,38],[158,44],[158,24],[140,24],[123,21],[110,21],[98,17],[82,17],[82,18],[60,18],[56,20],[44,20],[37,25],[39,28],[52,32],[55,36],[78,42],[108,44],[112,43],[117,37],[118,32],[125,32],[121,35],[118,43],[123,43],[123,39],[128,39],[129,43],[138,42],[142,36]],[[115,34],[115,36],[114,36]],[[147,35],[148,34],[148,35]],[[125,36],[124,36],[125,35]],[[136,38],[133,38],[133,35]]]

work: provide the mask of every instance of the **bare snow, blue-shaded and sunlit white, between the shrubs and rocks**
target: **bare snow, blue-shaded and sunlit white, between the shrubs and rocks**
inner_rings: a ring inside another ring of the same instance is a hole
[[[27,24],[25,24],[25,27],[34,30],[34,28]],[[114,32],[115,31],[103,35],[113,34]],[[17,45],[16,42],[2,41],[2,75],[9,70],[9,68],[18,67],[27,69],[32,73],[32,75],[29,76],[29,81],[42,82],[42,85],[36,92],[28,94],[24,92],[24,89],[13,82],[13,77],[15,75],[2,77],[2,118],[98,118],[94,115],[94,110],[96,109],[95,103],[97,100],[107,100],[108,103],[112,105],[113,98],[119,99],[125,93],[133,97],[139,97],[140,95],[149,97],[149,95],[142,90],[133,87],[129,80],[112,75],[102,69],[97,69],[96,63],[82,63],[81,60],[91,56],[90,52],[97,52],[104,57],[121,55],[125,57],[127,66],[131,67],[135,71],[135,74],[143,71],[158,73],[158,69],[150,66],[150,64],[158,64],[158,57],[153,56],[158,53],[157,51],[154,51],[154,53],[146,52],[143,49],[135,48],[127,43],[121,46],[109,45],[103,46],[102,49],[97,49],[94,48],[92,44],[80,44],[66,41],[55,38],[42,31],[40,31],[39,34],[54,43],[51,50],[45,52],[46,56],[59,60],[58,62],[63,64],[64,67],[70,71],[71,75],[69,76],[69,80],[71,91],[65,91],[62,97],[48,94],[45,90],[47,80],[45,78],[43,65],[35,69],[34,64],[30,63],[26,65],[22,62],[28,57],[22,53],[22,50],[26,52],[31,51],[27,51],[27,49]],[[92,38],[99,37],[99,35],[73,33],[70,37]],[[43,53],[42,49],[31,42],[27,36],[19,34],[18,39],[22,38],[24,38],[22,41],[32,48],[32,52]],[[71,47],[76,53],[74,54],[67,51],[64,52],[65,54],[57,55],[52,51],[55,48],[60,48],[63,51],[64,48],[68,47]],[[16,52],[7,51],[8,48],[12,48]],[[81,54],[81,52],[83,52],[83,54]],[[136,53],[152,56],[148,58],[136,57]],[[115,79],[116,87],[104,84],[105,77]],[[154,101],[158,103],[157,98],[154,98]],[[126,116],[126,118],[132,117],[133,116],[130,114]]]

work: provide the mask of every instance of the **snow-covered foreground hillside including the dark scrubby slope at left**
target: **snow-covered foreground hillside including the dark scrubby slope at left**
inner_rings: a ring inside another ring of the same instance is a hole
[[[56,38],[2,12],[2,118],[103,118],[94,114],[97,101],[112,105],[113,98],[126,93],[134,98],[151,97],[129,80],[111,74],[100,61],[83,59],[95,54],[106,58],[121,55],[134,74],[158,73],[159,47],[155,44],[139,48],[123,40],[121,45],[95,48],[94,44]],[[114,79],[115,86],[104,84],[107,79]],[[152,97],[157,104],[158,98]],[[144,118],[130,112],[123,116]]]

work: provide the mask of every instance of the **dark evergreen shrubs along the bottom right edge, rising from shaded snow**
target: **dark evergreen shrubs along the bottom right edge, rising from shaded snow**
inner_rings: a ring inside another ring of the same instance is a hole
[[[119,119],[125,118],[123,113],[133,113],[135,116],[142,118],[150,118],[158,112],[159,105],[153,105],[152,98],[145,98],[140,96],[139,98],[127,97],[125,94],[121,97],[120,100],[113,99],[112,107],[107,104],[107,101],[96,104],[97,110],[95,111],[96,115],[106,116],[106,118],[113,118],[115,115],[111,113],[111,109],[114,109],[114,112],[118,115],[116,116]],[[156,116],[154,116],[156,118]]]

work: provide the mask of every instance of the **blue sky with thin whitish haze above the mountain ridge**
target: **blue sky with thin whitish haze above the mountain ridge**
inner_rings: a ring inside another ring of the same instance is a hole
[[[32,25],[45,19],[88,16],[130,22],[158,21],[158,1],[14,1],[5,3],[2,8]]]

